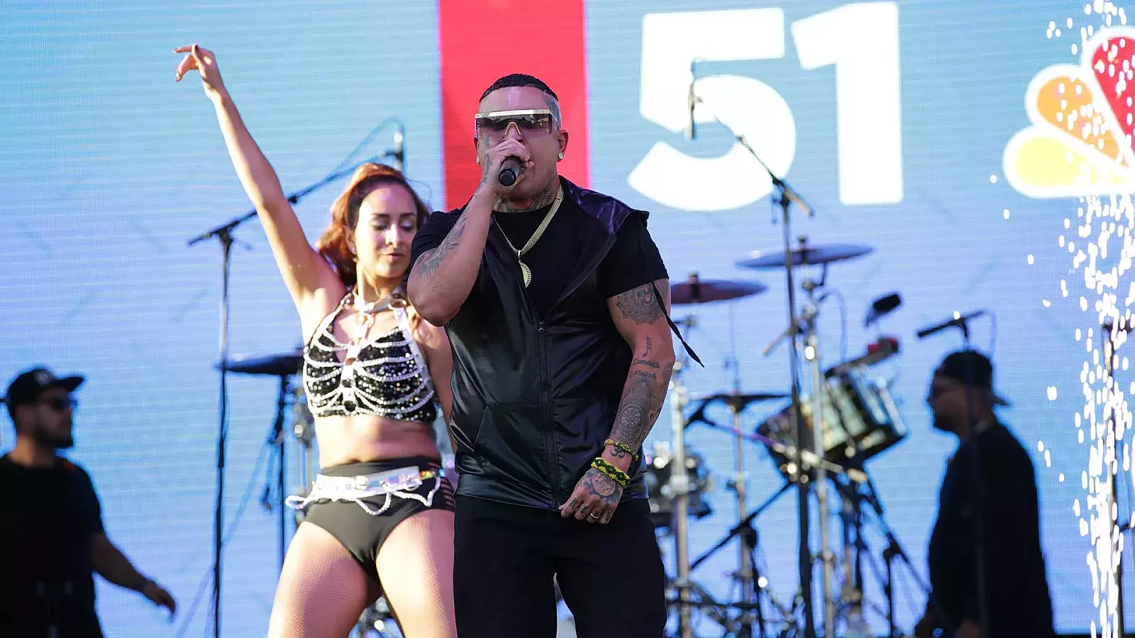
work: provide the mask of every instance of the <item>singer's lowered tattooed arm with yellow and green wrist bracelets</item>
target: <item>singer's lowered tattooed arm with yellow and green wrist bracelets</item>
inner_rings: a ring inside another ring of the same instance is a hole
[[[658,307],[650,286],[656,287],[665,308]],[[658,279],[613,296],[607,300],[607,308],[633,354],[609,438],[638,450],[658,418],[674,371],[674,344],[666,322],[670,279]],[[605,446],[602,457],[624,472],[632,461],[628,452],[615,445]],[[590,468],[560,512],[564,518],[574,515],[588,522],[606,523],[622,495],[622,486],[603,471]]]

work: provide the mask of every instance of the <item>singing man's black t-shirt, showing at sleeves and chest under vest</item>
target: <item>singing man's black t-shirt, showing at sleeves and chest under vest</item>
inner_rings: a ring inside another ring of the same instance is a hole
[[[494,212],[493,218],[512,245],[521,250],[549,209],[550,205],[526,212]],[[462,212],[431,215],[414,236],[412,262],[417,262],[423,252],[439,246],[457,224]],[[532,250],[524,253],[521,261],[532,271],[528,294],[532,297],[536,311],[540,316],[547,314],[565,292],[572,276],[582,267],[579,261],[582,257],[583,233],[588,223],[588,215],[565,198],[544,230],[544,235]],[[658,253],[658,246],[646,229],[646,224],[639,215],[631,213],[619,228],[615,245],[599,263],[596,274],[599,291],[604,299],[611,299],[642,284],[666,277],[666,266]]]

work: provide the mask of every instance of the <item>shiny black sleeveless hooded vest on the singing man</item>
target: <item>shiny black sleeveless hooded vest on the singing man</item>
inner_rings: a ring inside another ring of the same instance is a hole
[[[632,210],[561,178],[587,213],[585,247],[560,301],[539,317],[515,254],[490,224],[477,282],[446,326],[453,347],[457,494],[555,509],[603,453],[631,364],[596,269]],[[555,241],[546,237],[545,241]],[[539,285],[538,282],[535,285]],[[641,454],[640,454],[641,457]],[[623,500],[646,498],[642,463]]]

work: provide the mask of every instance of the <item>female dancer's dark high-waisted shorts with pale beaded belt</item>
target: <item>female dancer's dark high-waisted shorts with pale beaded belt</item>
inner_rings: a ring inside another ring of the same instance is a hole
[[[411,456],[335,465],[323,468],[320,473],[328,477],[353,477],[396,470],[409,465],[417,465],[422,470],[428,469],[435,472],[442,470],[442,465],[436,459]],[[442,485],[434,494],[434,498],[429,500],[435,480],[440,480]],[[413,494],[427,498],[430,504],[426,505],[415,498],[401,498],[392,495],[389,506],[381,514],[375,515],[363,511],[358,503],[318,501],[308,505],[303,520],[327,530],[343,544],[359,563],[359,566],[367,572],[367,576],[378,581],[378,568],[375,565],[375,560],[378,557],[378,551],[382,547],[382,543],[398,523],[426,510],[453,511],[453,486],[447,478],[426,479],[413,490]],[[378,511],[386,504],[386,496],[371,496],[363,498],[362,502],[367,503],[371,511]]]

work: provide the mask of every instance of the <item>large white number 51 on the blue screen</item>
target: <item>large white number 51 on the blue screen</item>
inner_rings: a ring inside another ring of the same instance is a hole
[[[835,66],[840,201],[902,201],[899,9],[856,2],[792,23],[800,66]],[[690,64],[784,57],[777,8],[648,14],[642,18],[642,117],[680,133],[689,121]],[[698,124],[716,116],[743,135],[784,176],[796,156],[796,120],[784,98],[753,77],[712,75],[695,84]],[[706,110],[708,107],[708,112]],[[739,143],[723,156],[695,158],[656,142],[628,177],[639,193],[681,210],[729,210],[772,192],[772,181]]]

